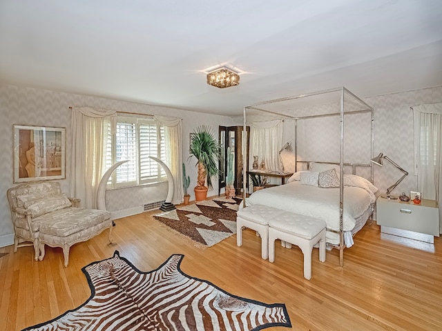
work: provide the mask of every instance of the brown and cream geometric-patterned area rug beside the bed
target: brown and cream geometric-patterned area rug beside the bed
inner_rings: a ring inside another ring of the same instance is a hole
[[[236,212],[241,201],[240,198],[218,197],[153,217],[198,245],[211,247],[236,233]]]

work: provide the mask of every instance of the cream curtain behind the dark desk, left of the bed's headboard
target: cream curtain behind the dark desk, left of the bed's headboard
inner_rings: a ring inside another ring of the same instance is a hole
[[[250,126],[250,164],[253,156],[258,155],[258,163],[265,161],[267,170],[280,170],[278,152],[282,147],[282,121],[254,122]]]

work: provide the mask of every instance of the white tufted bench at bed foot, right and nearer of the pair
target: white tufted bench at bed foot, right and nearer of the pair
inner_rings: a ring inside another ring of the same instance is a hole
[[[325,261],[325,221],[293,212],[269,220],[269,261],[275,261],[275,240],[297,245],[304,254],[304,277],[311,279],[311,250],[319,242],[319,261]],[[286,247],[288,247],[286,245]]]

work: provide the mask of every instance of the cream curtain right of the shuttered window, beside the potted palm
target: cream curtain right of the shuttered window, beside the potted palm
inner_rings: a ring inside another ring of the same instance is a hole
[[[173,176],[173,204],[184,201],[184,190],[182,187],[182,119],[174,117],[154,116],[164,128],[164,141],[166,142],[166,165]]]

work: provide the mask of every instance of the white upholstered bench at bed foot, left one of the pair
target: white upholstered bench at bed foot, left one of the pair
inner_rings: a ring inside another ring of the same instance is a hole
[[[251,205],[238,210],[236,214],[236,244],[242,245],[242,228],[255,230],[261,237],[261,257],[269,257],[269,220],[284,211],[267,205]]]

